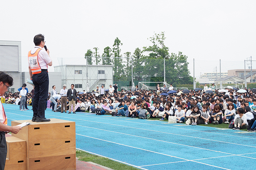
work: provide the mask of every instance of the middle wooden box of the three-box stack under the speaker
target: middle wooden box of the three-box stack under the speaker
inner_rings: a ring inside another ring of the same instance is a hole
[[[75,138],[28,142],[27,158],[75,154]]]

